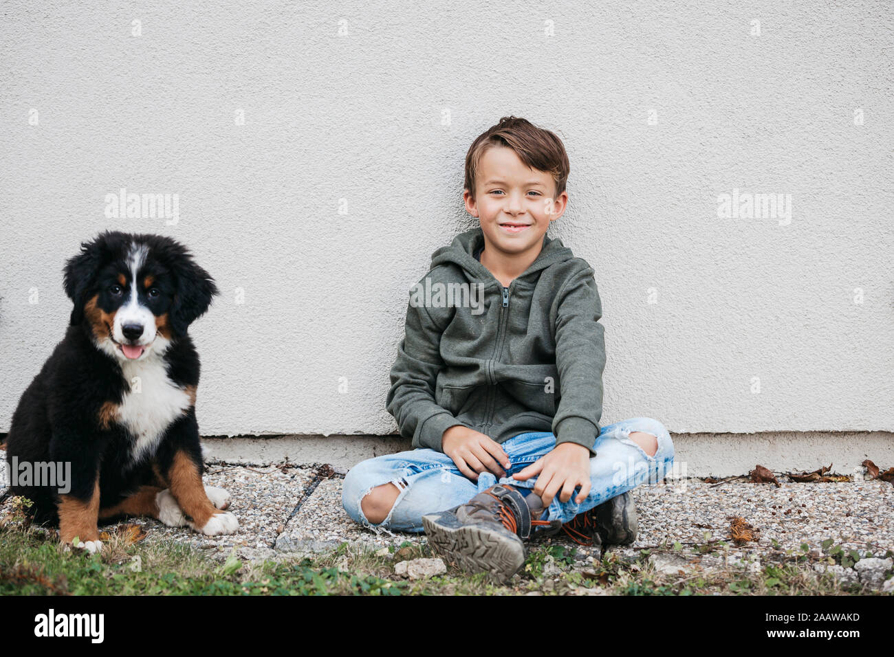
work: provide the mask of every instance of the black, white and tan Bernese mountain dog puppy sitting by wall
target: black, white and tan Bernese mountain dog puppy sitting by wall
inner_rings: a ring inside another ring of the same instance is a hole
[[[71,323],[21,396],[6,459],[11,473],[55,464],[71,481],[11,492],[89,552],[102,545],[98,521],[121,516],[232,534],[229,495],[202,484],[198,354],[187,334],[217,294],[214,280],[170,238],[105,232],[68,260],[64,287]]]

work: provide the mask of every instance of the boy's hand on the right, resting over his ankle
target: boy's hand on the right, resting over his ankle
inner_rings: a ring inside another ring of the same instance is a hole
[[[590,451],[576,442],[561,442],[512,478],[525,481],[535,475],[539,476],[534,492],[540,495],[544,507],[552,503],[560,489],[559,500],[569,501],[578,486],[580,493],[574,501],[580,504],[590,494]]]

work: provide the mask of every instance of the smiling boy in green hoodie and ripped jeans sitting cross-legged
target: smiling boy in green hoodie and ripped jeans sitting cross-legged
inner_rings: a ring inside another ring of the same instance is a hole
[[[631,543],[628,491],[673,460],[655,420],[598,424],[594,273],[545,236],[568,204],[568,173],[561,140],[525,119],[501,119],[469,148],[463,198],[480,228],[434,252],[391,372],[387,408],[415,449],[363,461],[344,481],[351,518],[424,528],[435,552],[500,580],[535,530]]]

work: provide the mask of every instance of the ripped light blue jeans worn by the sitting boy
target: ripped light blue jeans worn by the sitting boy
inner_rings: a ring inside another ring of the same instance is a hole
[[[658,450],[654,456],[649,456],[630,440],[630,434],[635,431],[652,434],[658,439]],[[555,436],[549,432],[519,434],[503,442],[502,448],[509,457],[510,468],[499,483],[534,488],[536,477],[516,481],[512,475],[552,451],[555,442]],[[569,501],[562,502],[557,494],[543,519],[558,519],[565,523],[578,513],[632,490],[639,484],[661,481],[670,472],[674,456],[671,434],[662,423],[649,417],[634,417],[603,426],[596,438],[594,451],[596,455],[590,458],[591,488],[586,499],[578,504],[572,495]],[[363,515],[360,501],[382,484],[394,484],[400,493],[387,518],[373,525]],[[477,483],[471,481],[449,456],[440,451],[401,451],[367,459],[350,468],[342,486],[342,505],[351,518],[371,529],[421,532],[424,515],[465,504],[493,484],[497,484],[497,478],[487,471],[478,475]]]

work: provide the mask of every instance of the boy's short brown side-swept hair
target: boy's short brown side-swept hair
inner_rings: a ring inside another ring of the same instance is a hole
[[[532,169],[552,174],[556,197],[565,191],[571,165],[561,139],[551,131],[537,128],[527,119],[504,116],[500,122],[478,136],[466,154],[465,189],[475,196],[478,163],[488,148],[510,147],[519,159]]]

